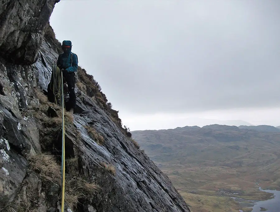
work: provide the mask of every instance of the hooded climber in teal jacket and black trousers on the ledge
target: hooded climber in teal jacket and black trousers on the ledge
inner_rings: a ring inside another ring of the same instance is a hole
[[[57,66],[63,73],[63,78],[68,85],[69,108],[74,112],[76,107],[75,83],[77,82],[78,56],[72,50],[71,41],[62,42],[63,53],[58,56]]]

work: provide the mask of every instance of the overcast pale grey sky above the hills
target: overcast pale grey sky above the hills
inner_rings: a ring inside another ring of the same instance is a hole
[[[61,0],[50,24],[144,130],[280,125],[279,20],[279,0]]]

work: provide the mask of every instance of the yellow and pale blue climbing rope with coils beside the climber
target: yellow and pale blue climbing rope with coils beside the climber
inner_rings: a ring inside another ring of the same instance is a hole
[[[50,88],[53,91],[55,103],[60,102],[62,107],[62,155],[61,155],[61,212],[64,212],[64,190],[65,190],[65,139],[64,139],[64,97],[63,97],[63,74],[53,65]]]

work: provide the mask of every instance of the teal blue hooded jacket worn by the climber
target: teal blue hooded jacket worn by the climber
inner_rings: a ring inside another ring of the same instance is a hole
[[[71,43],[70,43],[70,45],[71,45]],[[65,69],[65,70],[67,70],[68,73],[75,72],[78,69],[78,56],[76,54],[72,53],[71,49],[72,49],[72,45],[69,48],[68,52],[66,52],[66,53],[64,52],[64,53],[60,54],[57,59],[58,68]],[[72,55],[72,64],[71,64],[71,54],[73,54]]]

